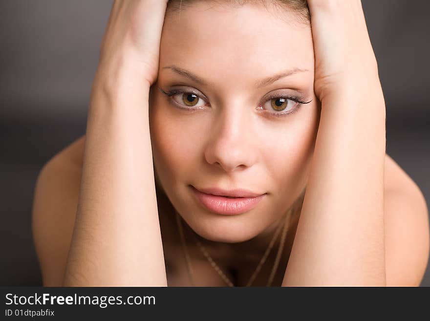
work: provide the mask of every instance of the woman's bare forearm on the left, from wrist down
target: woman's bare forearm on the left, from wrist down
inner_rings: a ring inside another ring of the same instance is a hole
[[[149,84],[99,72],[64,286],[166,286],[149,131]],[[109,81],[108,81],[109,80]]]

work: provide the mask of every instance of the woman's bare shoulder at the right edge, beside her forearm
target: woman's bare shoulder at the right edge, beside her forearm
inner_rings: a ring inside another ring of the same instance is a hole
[[[418,185],[388,155],[384,200],[387,286],[418,286],[429,259],[428,207]]]

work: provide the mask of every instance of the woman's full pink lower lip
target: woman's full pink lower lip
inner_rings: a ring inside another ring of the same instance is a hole
[[[265,194],[257,197],[229,198],[224,196],[206,194],[194,188],[197,199],[211,212],[224,215],[242,214],[252,210],[262,200]]]

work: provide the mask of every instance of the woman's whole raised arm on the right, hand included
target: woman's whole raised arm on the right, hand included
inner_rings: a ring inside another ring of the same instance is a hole
[[[361,2],[308,4],[322,111],[282,285],[384,286],[385,102]]]

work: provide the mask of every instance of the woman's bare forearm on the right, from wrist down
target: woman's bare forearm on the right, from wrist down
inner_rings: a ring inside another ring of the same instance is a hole
[[[326,97],[283,286],[385,285],[385,103]],[[355,88],[354,88],[355,89]]]

